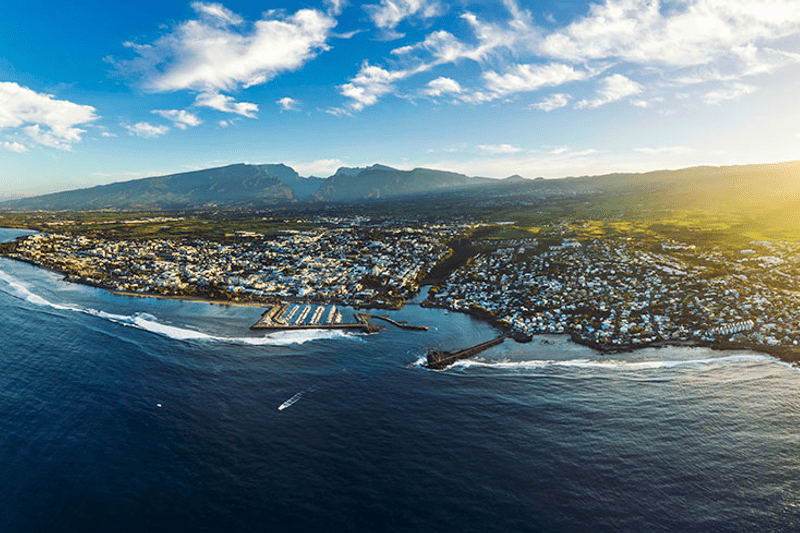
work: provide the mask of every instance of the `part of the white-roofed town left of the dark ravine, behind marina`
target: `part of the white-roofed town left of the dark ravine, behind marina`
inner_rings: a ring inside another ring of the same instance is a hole
[[[119,292],[396,308],[418,292],[426,266],[447,253],[444,243],[460,231],[347,219],[271,238],[238,231],[229,243],[41,233],[9,255]]]

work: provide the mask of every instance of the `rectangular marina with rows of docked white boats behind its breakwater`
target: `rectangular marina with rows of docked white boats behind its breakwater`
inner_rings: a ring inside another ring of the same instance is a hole
[[[378,331],[378,326],[369,322],[370,315],[365,313],[355,313],[355,322],[342,322],[341,313],[336,307],[331,307],[326,313],[327,306],[320,305],[311,316],[311,320],[306,322],[306,318],[311,313],[311,305],[305,305],[300,315],[297,314],[297,305],[290,307],[290,304],[281,302],[267,308],[258,319],[258,322],[250,326],[252,330],[272,330],[287,331],[299,329],[355,329],[367,333]],[[325,320],[323,321],[323,317]]]

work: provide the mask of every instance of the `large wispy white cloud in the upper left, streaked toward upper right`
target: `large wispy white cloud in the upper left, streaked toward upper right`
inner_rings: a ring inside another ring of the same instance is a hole
[[[114,60],[117,69],[154,92],[190,90],[197,105],[247,117],[255,104],[233,104],[220,94],[260,85],[304,66],[328,50],[336,20],[330,13],[300,9],[292,15],[268,11],[250,24],[222,4],[195,2],[198,18],[176,25],[149,44],[125,43],[137,57]],[[333,11],[341,2],[332,4]]]

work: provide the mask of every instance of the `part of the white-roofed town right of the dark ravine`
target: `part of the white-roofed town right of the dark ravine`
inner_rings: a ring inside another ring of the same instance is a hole
[[[527,255],[498,243],[430,291],[430,305],[472,310],[529,334],[569,333],[618,350],[672,343],[797,346],[800,297],[794,243],[738,252],[632,238],[566,238]],[[771,350],[775,352],[776,350]]]

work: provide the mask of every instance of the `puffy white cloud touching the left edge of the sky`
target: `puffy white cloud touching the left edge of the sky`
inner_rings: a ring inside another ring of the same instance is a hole
[[[13,82],[0,82],[0,129],[21,128],[33,141],[70,150],[86,130],[76,126],[97,120],[95,108]]]

